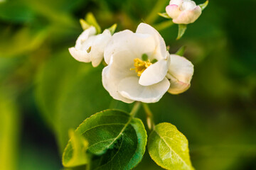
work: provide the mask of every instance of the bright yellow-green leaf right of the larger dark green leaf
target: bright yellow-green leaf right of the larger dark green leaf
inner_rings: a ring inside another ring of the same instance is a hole
[[[148,149],[154,162],[164,169],[193,169],[189,157],[188,140],[171,123],[156,125],[149,135]]]

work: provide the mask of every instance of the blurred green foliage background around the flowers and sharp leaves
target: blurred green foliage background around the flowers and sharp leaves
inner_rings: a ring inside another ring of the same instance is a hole
[[[204,1],[196,1],[201,4]],[[100,26],[161,28],[169,1],[0,0],[0,169],[63,169],[68,129],[114,101],[101,70],[77,62],[68,47],[82,32],[79,19]],[[191,89],[151,104],[156,123],[169,122],[188,138],[196,169],[256,169],[256,1],[210,1],[176,41],[177,26],[162,29],[170,52],[187,46],[195,65]],[[159,27],[160,26],[160,27]],[[144,113],[138,115],[144,120]],[[146,153],[136,169],[161,169]]]

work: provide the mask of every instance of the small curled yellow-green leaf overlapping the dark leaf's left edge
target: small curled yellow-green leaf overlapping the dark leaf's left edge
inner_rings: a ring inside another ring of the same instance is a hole
[[[70,130],[69,135],[71,143],[70,147],[72,146],[72,148],[68,147],[65,149],[62,159],[63,166],[73,167],[81,164],[87,164],[89,162],[89,158],[86,154],[88,148],[87,140],[74,130]]]

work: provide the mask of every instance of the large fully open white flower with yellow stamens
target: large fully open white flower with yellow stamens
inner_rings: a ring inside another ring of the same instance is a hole
[[[114,99],[154,103],[169,89],[169,52],[161,35],[145,23],[136,33],[115,33],[104,57],[109,65],[102,71],[102,83]]]

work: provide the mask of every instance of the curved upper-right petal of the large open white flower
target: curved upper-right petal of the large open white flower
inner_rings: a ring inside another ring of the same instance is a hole
[[[161,35],[155,28],[149,26],[149,24],[140,23],[136,30],[136,33],[152,35],[156,42],[154,58],[156,58],[157,60],[161,60],[163,57],[166,57],[166,44],[164,42],[164,38],[161,37]],[[151,59],[150,56],[149,59]]]

